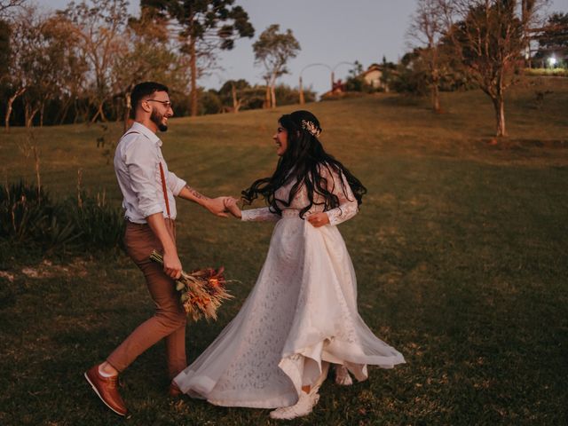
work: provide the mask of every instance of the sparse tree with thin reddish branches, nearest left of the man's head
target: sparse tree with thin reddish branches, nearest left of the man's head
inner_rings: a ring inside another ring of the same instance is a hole
[[[87,3],[89,1],[89,3]],[[106,121],[104,106],[110,98],[109,82],[115,61],[124,53],[124,34],[128,21],[126,0],[83,0],[71,2],[62,12],[70,23],[69,30],[79,40],[79,49],[92,73],[91,102],[96,108],[91,122]]]

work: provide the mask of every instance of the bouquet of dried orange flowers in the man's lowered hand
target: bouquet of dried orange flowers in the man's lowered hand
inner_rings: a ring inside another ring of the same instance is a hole
[[[153,251],[150,259],[163,264],[163,256]],[[212,268],[200,269],[191,273],[181,272],[177,279],[176,289],[181,293],[181,303],[185,312],[193,321],[204,317],[217,319],[217,309],[226,299],[233,298],[226,290],[227,281],[223,276],[225,268],[221,266],[218,271]]]

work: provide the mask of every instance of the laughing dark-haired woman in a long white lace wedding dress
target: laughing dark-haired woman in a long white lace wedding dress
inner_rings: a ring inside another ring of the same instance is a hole
[[[353,217],[365,187],[319,142],[308,111],[280,117],[272,177],[243,191],[268,207],[225,207],[243,221],[276,222],[264,266],[241,311],[192,365],[180,390],[218,406],[277,408],[276,419],[312,412],[335,364],[335,381],[367,379],[367,364],[391,368],[403,356],[378,339],[357,311],[357,283],[336,225]]]

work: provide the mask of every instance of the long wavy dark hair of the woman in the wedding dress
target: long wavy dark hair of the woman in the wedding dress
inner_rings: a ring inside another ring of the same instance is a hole
[[[288,148],[280,157],[271,177],[258,179],[248,189],[242,191],[242,200],[245,204],[250,204],[260,195],[273,213],[280,214],[281,209],[276,201],[289,206],[298,190],[305,185],[310,203],[300,211],[300,217],[304,217],[305,212],[312,208],[314,193],[323,198],[323,201],[317,204],[323,204],[324,211],[335,209],[339,206],[339,200],[334,193],[327,190],[327,179],[321,176],[320,171],[323,167],[330,172],[339,173],[340,176],[343,173],[357,203],[360,205],[363,202],[367,188],[341,162],[325,152],[318,139],[322,130],[314,114],[309,111],[295,111],[292,114],[282,115],[279,122],[288,131]],[[277,200],[274,195],[276,190],[294,179],[296,183],[292,186],[288,200]],[[347,197],[343,179],[341,184],[343,193]]]

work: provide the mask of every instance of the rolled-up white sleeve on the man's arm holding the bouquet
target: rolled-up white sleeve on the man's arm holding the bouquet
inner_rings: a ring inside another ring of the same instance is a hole
[[[155,173],[158,167],[158,154],[155,146],[138,139],[132,141],[124,151],[123,161],[128,168],[132,191],[138,198],[138,210],[148,217],[161,213],[162,203],[155,184]]]

